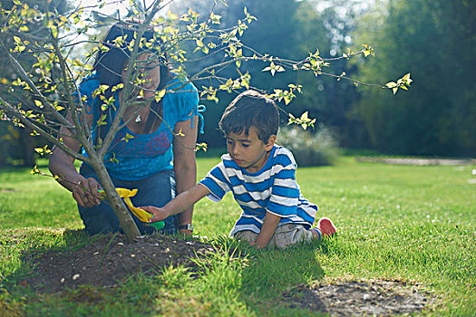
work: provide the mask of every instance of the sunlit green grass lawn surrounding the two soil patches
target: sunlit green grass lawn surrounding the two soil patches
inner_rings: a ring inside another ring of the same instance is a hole
[[[200,158],[199,177],[218,161]],[[389,166],[345,157],[335,167],[300,168],[296,177],[304,196],[319,205],[318,216],[334,220],[338,236],[239,260],[210,255],[200,260],[199,276],[168,267],[115,289],[84,287],[58,298],[18,286],[32,269],[21,256],[84,242],[83,235],[64,230],[83,226],[73,198],[28,169],[0,170],[0,315],[308,315],[280,306],[281,295],[299,283],[341,277],[415,281],[439,298],[425,313],[476,314],[471,167]],[[239,214],[229,195],[219,204],[204,199],[194,226],[199,235],[229,245],[221,235]]]

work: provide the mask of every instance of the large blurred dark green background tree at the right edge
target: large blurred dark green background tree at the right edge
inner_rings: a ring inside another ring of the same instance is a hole
[[[360,19],[356,42],[378,60],[358,61],[359,77],[412,72],[415,87],[394,98],[362,90],[352,112],[367,147],[419,155],[476,154],[474,1],[379,1]]]

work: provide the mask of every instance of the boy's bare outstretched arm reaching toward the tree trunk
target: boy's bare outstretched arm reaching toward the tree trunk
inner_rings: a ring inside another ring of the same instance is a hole
[[[164,207],[159,208],[147,206],[141,207],[141,209],[144,209],[153,215],[153,217],[149,219],[149,222],[153,223],[161,221],[168,216],[180,214],[182,211],[192,207],[196,202],[207,195],[209,195],[209,188],[197,184],[194,187],[191,187],[189,190],[181,192],[179,196],[170,200],[170,202]]]

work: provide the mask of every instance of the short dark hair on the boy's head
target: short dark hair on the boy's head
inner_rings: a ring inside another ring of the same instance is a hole
[[[279,129],[279,111],[275,101],[257,91],[240,93],[223,112],[219,129],[224,133],[241,133],[248,136],[249,129],[257,129],[257,138],[263,142]]]

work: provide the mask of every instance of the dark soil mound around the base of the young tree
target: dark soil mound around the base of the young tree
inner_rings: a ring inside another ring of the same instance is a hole
[[[131,244],[123,235],[102,235],[79,249],[50,251],[34,259],[34,276],[24,283],[39,293],[80,285],[109,287],[133,274],[157,274],[173,264],[195,267],[192,259],[214,252],[211,245],[167,235],[146,235]]]

